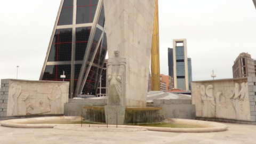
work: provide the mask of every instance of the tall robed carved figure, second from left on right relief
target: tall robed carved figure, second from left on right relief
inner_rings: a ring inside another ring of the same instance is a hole
[[[215,97],[213,95],[213,85],[206,86],[206,95],[207,95],[207,101],[208,101],[208,116],[209,117],[215,117],[216,114],[216,101]]]

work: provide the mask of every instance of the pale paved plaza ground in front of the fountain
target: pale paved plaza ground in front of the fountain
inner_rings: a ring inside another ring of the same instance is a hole
[[[59,129],[20,129],[0,126],[3,143],[256,143],[256,125],[231,124],[228,130],[210,133],[157,131],[88,131]],[[100,127],[98,129],[101,129]],[[121,129],[121,128],[120,128]]]

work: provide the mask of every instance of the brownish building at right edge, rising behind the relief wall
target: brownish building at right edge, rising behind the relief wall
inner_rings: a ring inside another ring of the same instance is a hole
[[[255,60],[251,58],[249,53],[240,53],[234,61],[233,78],[255,76]]]

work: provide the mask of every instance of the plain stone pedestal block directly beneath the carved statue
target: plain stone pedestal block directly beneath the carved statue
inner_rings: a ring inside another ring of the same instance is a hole
[[[105,106],[107,124],[124,124],[125,106]]]

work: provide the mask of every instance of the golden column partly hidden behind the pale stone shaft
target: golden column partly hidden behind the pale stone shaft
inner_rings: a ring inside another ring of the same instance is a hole
[[[151,47],[151,90],[160,91],[158,0],[156,0]]]

